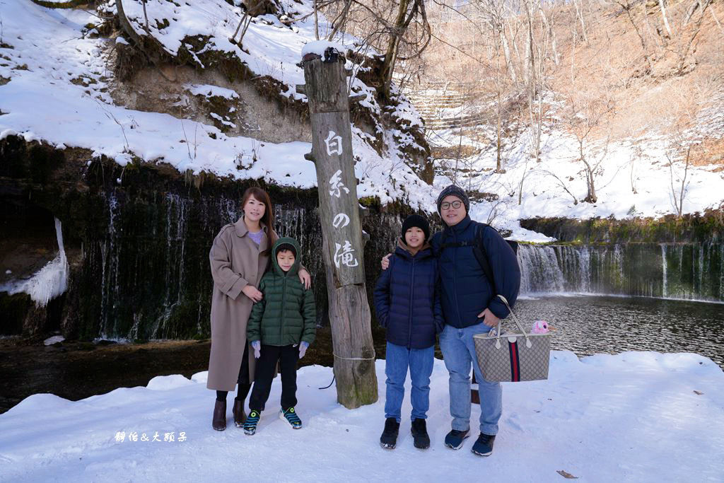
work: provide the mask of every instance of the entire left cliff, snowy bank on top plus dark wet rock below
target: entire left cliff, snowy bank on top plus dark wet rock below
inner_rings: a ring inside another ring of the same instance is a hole
[[[125,0],[122,11],[0,0],[0,333],[208,335],[209,244],[253,183],[277,203],[280,234],[306,245],[324,307],[311,130],[295,91],[313,20],[282,22],[311,1],[279,4],[239,43],[243,12],[224,0]],[[350,106],[358,194],[395,213],[432,210],[421,119],[400,93],[379,104],[379,61],[358,45],[339,46],[350,95],[364,96]],[[371,264],[399,221],[373,209],[364,224]]]

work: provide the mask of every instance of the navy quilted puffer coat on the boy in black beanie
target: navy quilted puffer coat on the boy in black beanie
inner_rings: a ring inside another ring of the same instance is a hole
[[[424,349],[442,331],[437,260],[429,246],[414,256],[398,242],[374,289],[377,320],[387,328],[387,341],[406,348]]]

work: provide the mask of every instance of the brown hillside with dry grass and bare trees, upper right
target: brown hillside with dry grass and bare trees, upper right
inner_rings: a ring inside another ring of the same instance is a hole
[[[555,121],[586,142],[695,141],[692,164],[724,164],[724,1],[477,0],[429,17],[434,40],[400,77],[467,96],[493,134]]]

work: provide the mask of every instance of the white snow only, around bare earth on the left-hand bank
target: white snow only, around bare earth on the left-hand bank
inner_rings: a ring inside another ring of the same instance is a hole
[[[282,1],[286,12],[302,17],[311,12],[311,1]],[[124,2],[134,30],[145,35],[142,4]],[[214,172],[239,179],[264,178],[279,185],[309,188],[316,185],[311,161],[303,155],[309,143],[261,143],[230,136],[211,124],[179,119],[169,114],[141,112],[114,104],[109,89],[114,82],[111,49],[115,40],[92,38],[96,12],[46,9],[25,0],[0,0],[3,29],[0,39],[0,139],[20,134],[55,146],[89,148],[125,165],[137,156],[143,161],[164,161],[184,172]],[[116,11],[114,1],[100,14]],[[313,41],[313,19],[283,25],[277,17],[257,17],[248,28],[243,49],[229,38],[240,20],[240,9],[224,0],[198,0],[181,5],[148,0],[146,11],[151,35],[169,55],[178,53],[184,38],[202,35],[204,49],[233,56],[253,74],[269,76],[284,85],[280,96],[304,100],[295,93],[303,71],[296,65],[306,43]],[[321,22],[327,22],[321,17]],[[353,47],[355,39],[350,40]],[[192,54],[198,51],[189,49]],[[198,67],[203,67],[196,59]],[[350,62],[351,66],[351,62]],[[379,113],[372,88],[357,77],[350,81],[354,93],[366,93],[361,106]],[[190,86],[192,90],[195,87]],[[419,117],[401,103],[392,118]],[[405,199],[414,208],[434,209],[432,188],[403,162],[402,148],[410,140],[398,132],[385,137],[382,156],[369,144],[369,135],[354,130],[353,147],[360,161],[358,195],[379,196],[382,203]],[[122,180],[119,180],[122,182]],[[405,187],[405,190],[402,189]]]

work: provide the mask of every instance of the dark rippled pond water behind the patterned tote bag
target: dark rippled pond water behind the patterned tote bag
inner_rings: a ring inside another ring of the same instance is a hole
[[[518,300],[521,322],[550,322],[552,348],[578,356],[625,350],[693,352],[724,369],[724,303],[644,297],[531,296]]]

